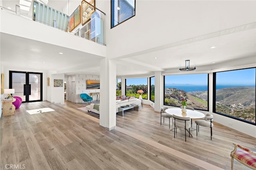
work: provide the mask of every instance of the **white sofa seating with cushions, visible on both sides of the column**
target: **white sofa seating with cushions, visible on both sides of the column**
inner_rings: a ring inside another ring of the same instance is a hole
[[[118,113],[118,107],[130,105],[130,104],[138,104],[139,107],[141,107],[141,100],[135,98],[135,99],[127,99],[127,100],[121,100],[116,102],[116,113]],[[100,107],[99,107],[99,110],[96,110],[93,108],[93,106],[94,106],[94,103],[86,106],[86,109],[88,109],[88,111],[92,111],[94,113],[100,114]]]

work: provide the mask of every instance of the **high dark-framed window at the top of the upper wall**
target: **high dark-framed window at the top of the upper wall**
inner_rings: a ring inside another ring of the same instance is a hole
[[[135,0],[111,0],[111,28],[135,16]]]

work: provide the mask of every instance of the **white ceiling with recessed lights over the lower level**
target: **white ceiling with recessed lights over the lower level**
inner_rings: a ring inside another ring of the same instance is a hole
[[[16,1],[4,2],[6,3],[2,5],[7,8],[11,6],[10,2],[15,4]],[[51,0],[48,5],[50,4]],[[52,2],[52,8],[57,9],[58,6],[54,5],[56,4]],[[177,34],[182,34],[182,30]],[[216,48],[210,49],[213,45]],[[60,55],[58,52],[64,54]],[[187,59],[190,60],[190,66],[195,65],[199,70],[202,66],[214,68],[216,64],[239,59],[244,59],[248,64],[256,63],[256,23],[237,25],[235,28],[199,37],[188,36],[183,41],[119,56],[116,58],[117,76],[153,74],[154,71],[170,69],[177,69],[178,72],[180,66],[185,66]],[[100,72],[98,56],[1,33],[1,63],[8,64],[10,60],[13,66],[57,70],[65,74],[99,75]]]

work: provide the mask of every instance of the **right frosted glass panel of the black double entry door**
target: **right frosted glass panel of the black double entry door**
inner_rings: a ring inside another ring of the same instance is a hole
[[[40,89],[40,74],[29,74],[29,84],[31,84],[31,95],[29,95],[29,101],[40,100],[41,89]]]

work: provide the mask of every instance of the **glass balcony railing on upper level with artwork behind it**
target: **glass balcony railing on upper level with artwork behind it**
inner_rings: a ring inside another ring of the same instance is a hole
[[[18,5],[16,5],[16,11],[4,7],[0,7],[0,9],[72,35],[106,45],[104,35],[106,14],[94,6],[95,0],[91,0],[91,4],[83,0],[82,5],[79,5],[70,16],[40,2],[33,1],[32,3],[33,9],[31,10],[31,15],[21,14]]]

